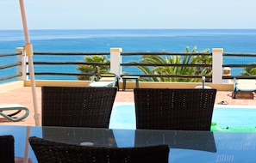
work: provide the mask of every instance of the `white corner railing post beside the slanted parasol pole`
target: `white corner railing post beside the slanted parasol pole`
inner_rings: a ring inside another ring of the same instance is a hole
[[[21,62],[22,65],[17,66],[17,73],[22,73],[22,76],[18,77],[18,81],[26,81],[27,77],[27,64],[26,64],[26,55],[24,53],[23,47],[17,47],[16,52],[22,52],[22,55],[17,56],[17,61]]]

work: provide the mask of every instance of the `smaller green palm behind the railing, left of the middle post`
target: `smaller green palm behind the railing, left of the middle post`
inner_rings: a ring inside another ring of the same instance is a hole
[[[95,55],[95,56],[91,56],[91,57],[84,57],[84,61],[86,63],[110,63],[110,60],[107,59],[106,56],[100,56],[100,55]],[[109,65],[84,65],[84,64],[78,65],[78,70],[82,74],[94,74],[94,75],[96,75],[99,72],[108,72],[109,68],[110,68]],[[91,76],[79,75],[78,80],[90,81]]]

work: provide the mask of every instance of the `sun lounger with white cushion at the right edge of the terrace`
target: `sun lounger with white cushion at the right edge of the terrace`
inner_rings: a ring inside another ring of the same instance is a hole
[[[232,98],[235,99],[239,92],[253,93],[256,92],[256,79],[235,79]]]

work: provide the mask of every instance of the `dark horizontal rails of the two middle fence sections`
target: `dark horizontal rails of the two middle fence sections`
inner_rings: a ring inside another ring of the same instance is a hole
[[[61,61],[61,57],[63,56],[83,56],[83,57],[90,57],[92,55],[105,55],[105,56],[109,56],[109,53],[63,53],[63,52],[34,52],[34,57],[36,56],[59,56],[59,61],[45,61],[45,62],[38,62],[35,61],[34,65],[42,65],[42,66],[47,66],[47,65],[109,65],[109,63],[85,63],[84,61],[80,61],[80,62],[63,62]],[[155,55],[165,55],[165,56],[172,56],[172,55],[181,55],[181,56],[195,56],[195,55],[204,55],[204,56],[211,56],[211,53],[167,53],[167,52],[123,52],[122,54],[122,60],[125,60],[124,58],[127,56],[143,56],[143,55],[151,55],[151,56],[155,56]],[[133,67],[136,69],[136,67],[138,66],[161,66],[161,67],[168,67],[168,66],[175,66],[175,67],[209,67],[211,68],[212,64],[175,64],[175,63],[119,63],[121,67]],[[77,75],[85,75],[85,76],[91,76],[94,75],[93,73],[89,72],[89,73],[76,73],[76,72],[72,72],[72,73],[66,73],[66,72],[51,72],[51,71],[44,71],[44,72],[38,72],[35,71],[34,72],[35,75],[73,75],[73,76],[77,76]],[[27,74],[28,75],[28,74]],[[144,75],[141,72],[140,73],[136,73],[136,74],[132,74],[129,72],[129,74],[121,74],[122,75],[135,75],[135,76],[140,76],[140,77],[183,77],[183,78],[201,78],[201,75]],[[211,78],[211,76],[206,76],[207,78]]]

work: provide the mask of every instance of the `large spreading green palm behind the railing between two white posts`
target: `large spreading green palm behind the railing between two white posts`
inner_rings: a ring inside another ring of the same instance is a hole
[[[191,53],[197,51],[197,47],[195,46]],[[189,52],[189,47],[185,48],[185,52]],[[203,52],[209,52],[209,50],[205,50]],[[130,62],[137,63],[137,62]],[[171,56],[171,57],[162,57],[161,55],[151,56],[146,55],[143,56],[139,63],[177,63],[177,64],[188,64],[188,63],[211,63],[211,57],[209,56]],[[201,69],[201,68],[193,68],[193,67],[148,67],[148,66],[138,66],[138,69],[142,71],[145,75],[206,75],[211,73],[211,69]],[[184,79],[184,78],[171,78],[171,77],[147,77],[142,78],[140,81],[144,82],[199,82],[201,79]]]

